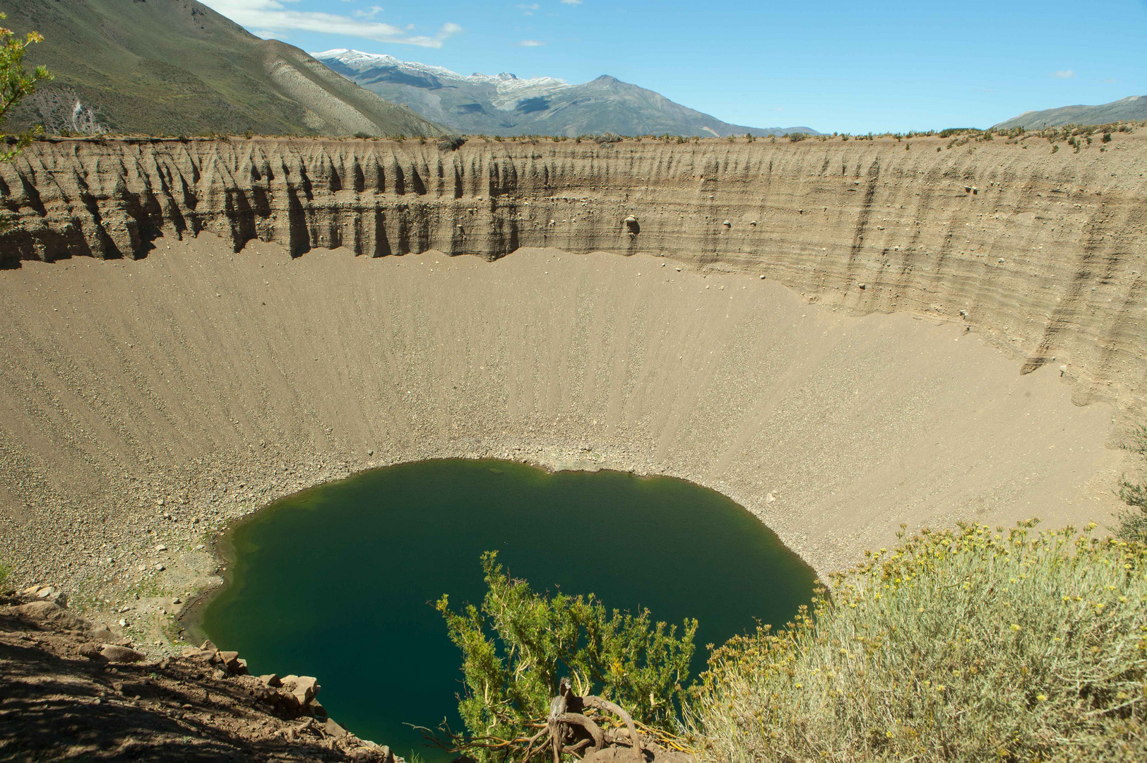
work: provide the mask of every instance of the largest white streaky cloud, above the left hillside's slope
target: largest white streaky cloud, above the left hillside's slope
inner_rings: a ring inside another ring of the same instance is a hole
[[[462,31],[454,23],[445,23],[434,37],[427,34],[407,34],[406,31],[383,22],[352,18],[338,14],[312,10],[290,10],[287,3],[297,0],[203,0],[224,16],[248,29],[282,30],[297,29],[306,32],[327,34],[345,34],[361,37],[377,42],[397,42],[400,45],[418,45],[426,48],[440,48],[446,38]],[[373,17],[374,8],[367,11]],[[381,8],[380,8],[381,10]],[[260,37],[263,33],[260,32]]]

